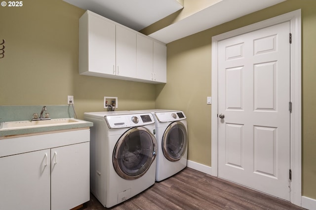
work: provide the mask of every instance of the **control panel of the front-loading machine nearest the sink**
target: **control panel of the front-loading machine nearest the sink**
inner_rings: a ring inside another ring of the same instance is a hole
[[[126,128],[155,123],[151,113],[104,116],[109,128]]]

